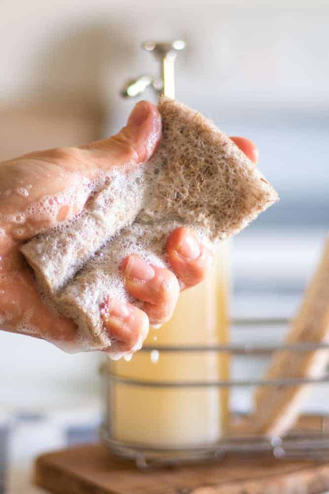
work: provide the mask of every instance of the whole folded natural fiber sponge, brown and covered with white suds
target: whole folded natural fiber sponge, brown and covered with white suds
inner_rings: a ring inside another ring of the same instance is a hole
[[[75,223],[22,248],[41,287],[95,348],[111,344],[100,314],[104,299],[137,303],[118,271],[124,256],[138,253],[164,266],[174,228],[190,226],[204,242],[223,240],[278,198],[234,142],[200,113],[169,98],[161,98],[158,109],[163,130],[155,155],[125,178],[113,170],[99,193],[110,194],[101,208],[91,201]]]

